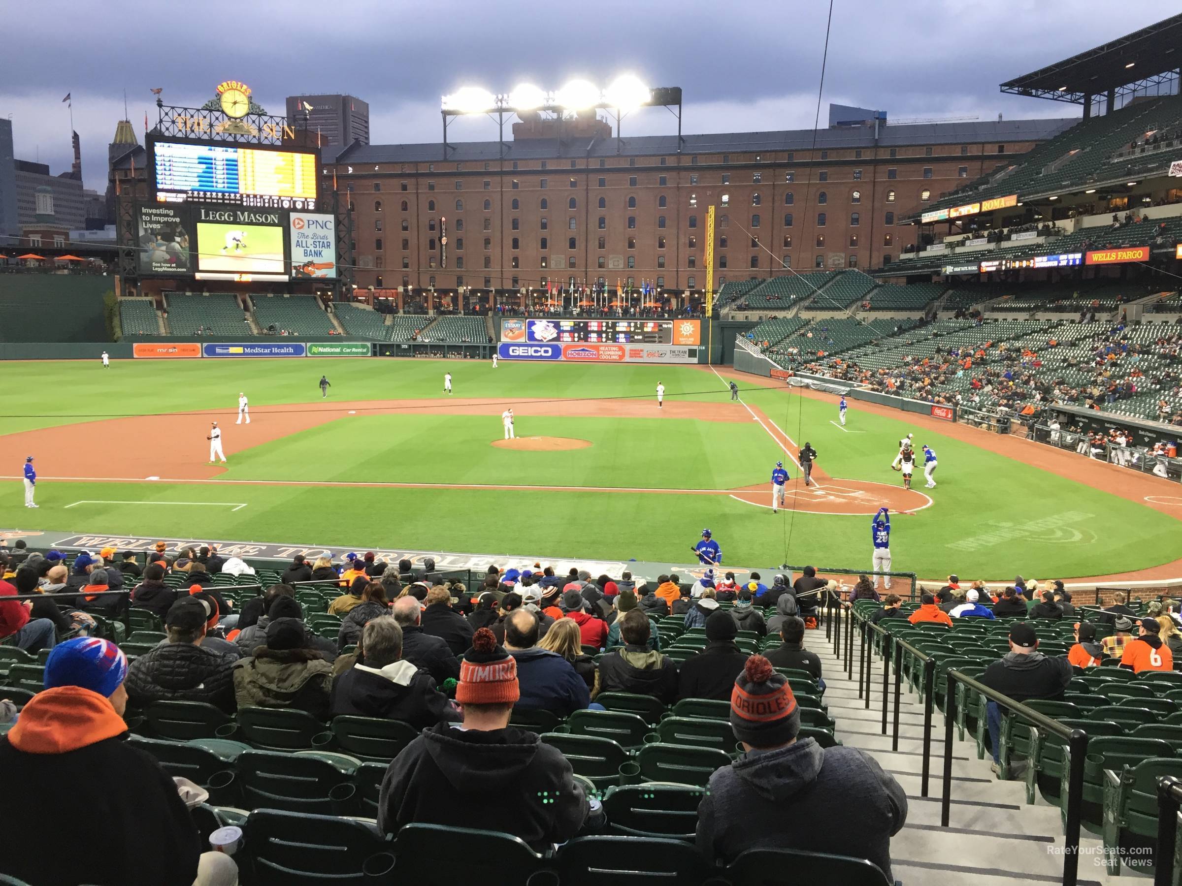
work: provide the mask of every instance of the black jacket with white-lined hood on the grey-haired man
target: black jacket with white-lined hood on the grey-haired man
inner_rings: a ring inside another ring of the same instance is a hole
[[[355,664],[333,680],[329,709],[333,717],[398,719],[415,729],[460,719],[431,676],[405,659],[384,667]]]

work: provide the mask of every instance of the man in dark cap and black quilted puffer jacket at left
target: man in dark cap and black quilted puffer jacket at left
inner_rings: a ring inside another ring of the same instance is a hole
[[[234,712],[236,656],[203,649],[210,617],[207,600],[187,597],[173,604],[164,619],[168,640],[139,656],[128,669],[128,696],[137,705],[149,702],[207,702]]]

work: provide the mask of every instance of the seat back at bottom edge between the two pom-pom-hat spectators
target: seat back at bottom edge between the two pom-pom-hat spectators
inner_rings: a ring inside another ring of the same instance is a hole
[[[563,886],[700,886],[712,869],[695,847],[655,836],[579,836],[554,854]]]

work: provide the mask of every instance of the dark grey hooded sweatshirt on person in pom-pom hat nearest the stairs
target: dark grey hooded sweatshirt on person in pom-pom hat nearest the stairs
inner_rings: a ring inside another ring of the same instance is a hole
[[[843,827],[850,809],[858,826]],[[707,862],[752,848],[807,849],[870,859],[889,881],[890,838],[907,820],[907,794],[857,748],[804,738],[751,750],[710,776],[697,808],[697,848]]]

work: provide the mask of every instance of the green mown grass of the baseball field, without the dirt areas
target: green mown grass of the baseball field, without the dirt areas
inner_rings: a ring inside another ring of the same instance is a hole
[[[311,363],[311,365],[309,365]],[[14,372],[9,372],[14,370]],[[691,367],[507,364],[424,360],[215,360],[91,364],[5,364],[12,415],[5,431],[85,421],[113,412],[174,412],[235,405],[319,400],[325,372],[340,399],[437,397],[450,370],[457,396],[505,398],[668,397],[723,402],[722,383]],[[311,389],[311,390],[309,390]],[[118,391],[118,393],[116,393]],[[715,392],[716,391],[716,392]],[[833,405],[752,389],[785,432],[820,452],[836,477],[897,484],[892,447],[913,430],[898,418],[859,412],[846,431]],[[259,416],[256,421],[265,421]],[[233,452],[229,480],[520,483],[644,488],[729,488],[765,482],[781,450],[759,424],[687,419],[519,418],[528,435],[580,437],[589,449],[524,452],[493,448],[495,418],[478,416],[350,416]],[[985,438],[987,439],[987,438]],[[941,435],[916,437],[940,456],[934,504],[895,519],[895,566],[935,578],[949,572],[989,579],[1104,574],[1182,556],[1177,522],[1136,502],[1047,474]],[[19,473],[6,464],[5,474]],[[920,486],[917,483],[917,486]],[[226,504],[78,504],[226,502]],[[702,527],[714,530],[729,563],[817,562],[866,568],[869,517],[781,513],[726,496],[375,487],[125,484],[45,482],[37,512],[25,510],[20,484],[0,494],[0,526],[178,538],[403,547],[603,559],[688,559]],[[233,510],[238,504],[247,507]],[[1041,521],[1031,526],[1032,521]],[[972,549],[962,547],[973,542]]]

